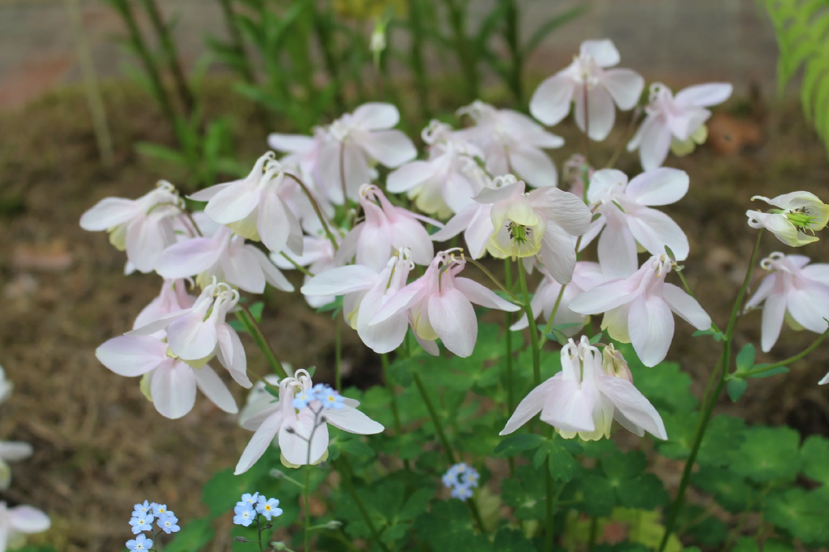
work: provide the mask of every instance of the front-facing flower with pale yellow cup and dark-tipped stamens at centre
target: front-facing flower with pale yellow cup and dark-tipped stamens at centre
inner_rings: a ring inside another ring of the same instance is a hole
[[[525,188],[518,180],[476,196],[492,204],[488,251],[499,258],[540,255],[550,276],[567,283],[575,268],[573,237],[589,227],[590,209],[570,192],[545,187],[526,194]]]

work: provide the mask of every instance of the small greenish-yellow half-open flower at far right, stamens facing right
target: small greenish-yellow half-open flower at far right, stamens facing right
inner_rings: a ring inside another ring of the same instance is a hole
[[[751,199],[752,201],[762,199],[778,209],[771,209],[768,213],[746,211],[749,226],[766,228],[778,240],[792,247],[817,242],[820,238],[817,238],[814,233],[826,228],[827,221],[829,221],[829,205],[824,204],[817,195],[809,192],[791,192],[772,199],[754,195]],[[807,232],[812,233],[812,236],[809,236]]]

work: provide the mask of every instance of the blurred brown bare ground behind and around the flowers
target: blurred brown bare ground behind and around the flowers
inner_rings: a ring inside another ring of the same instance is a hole
[[[182,520],[198,515],[201,483],[216,469],[234,465],[250,436],[203,397],[183,420],[166,420],[143,398],[137,380],[116,376],[95,360],[95,347],[128,329],[160,281],[124,277],[124,255],[104,234],[82,231],[80,214],[104,196],[143,194],[159,177],[176,181],[167,167],[131,150],[137,140],[169,141],[158,113],[138,91],[110,85],[105,93],[118,152],[111,171],[98,166],[78,90],[49,94],[0,116],[0,362],[16,385],[12,399],[0,406],[0,437],[30,441],[36,450],[31,461],[16,467],[12,488],[2,497],[49,511],[55,529],[43,538],[58,550],[118,550],[128,535],[128,512],[145,497],[166,502]],[[264,129],[235,98],[217,86],[211,110],[240,115],[237,146],[252,159],[264,150]],[[750,118],[720,118],[712,125],[712,140],[721,151],[734,149],[750,142],[759,125],[762,143],[733,155],[705,146],[670,161],[691,175],[688,196],[667,209],[691,240],[686,274],[720,325],[754,241],[744,217],[749,197],[792,190],[829,195],[826,152],[797,106],[736,108]],[[561,166],[580,140],[573,128],[556,130],[568,139],[555,152]],[[608,159],[620,134],[593,146],[594,157]],[[629,156],[620,168],[638,172]],[[783,247],[771,237],[764,242],[767,253]],[[829,260],[825,240],[807,252],[816,261]],[[321,374],[330,374],[332,320],[313,314],[298,295],[285,294],[269,297],[264,318],[264,331],[285,361],[316,364]],[[718,348],[708,338],[691,339],[687,324],[676,327],[669,359],[681,362],[701,388]],[[737,335],[738,346],[757,343],[759,314],[746,317]],[[812,338],[785,329],[768,358],[791,356]],[[345,361],[353,368],[347,383],[375,382],[376,361],[356,334],[348,330],[345,343]],[[251,369],[266,372],[252,343],[247,352]],[[761,355],[759,362],[766,359]],[[829,404],[816,386],[827,360],[829,347],[823,347],[787,377],[752,381],[738,406],[722,407],[751,421],[827,434]],[[242,390],[231,389],[241,401]],[[218,542],[215,550],[225,545]]]

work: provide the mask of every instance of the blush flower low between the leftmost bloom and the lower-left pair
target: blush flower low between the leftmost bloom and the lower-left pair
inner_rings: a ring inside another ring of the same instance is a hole
[[[282,272],[259,247],[221,226],[210,237],[191,238],[167,247],[156,265],[165,278],[196,276],[196,283],[207,286],[218,281],[238,286],[250,293],[264,292],[265,282],[278,290],[293,291]]]

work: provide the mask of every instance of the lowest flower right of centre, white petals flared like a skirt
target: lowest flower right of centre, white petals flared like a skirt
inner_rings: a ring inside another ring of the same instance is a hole
[[[561,372],[518,403],[501,434],[511,434],[541,412],[541,421],[565,439],[576,434],[585,441],[608,438],[613,420],[640,437],[647,431],[667,439],[662,417],[633,386],[630,371],[619,369],[618,357],[603,362],[603,354],[586,336],[578,345],[570,339],[561,349]]]

